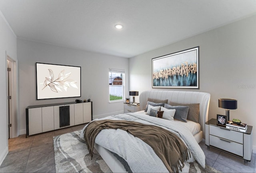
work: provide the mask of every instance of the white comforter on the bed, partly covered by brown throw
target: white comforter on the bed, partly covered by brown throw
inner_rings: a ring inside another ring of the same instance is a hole
[[[161,127],[170,130],[181,137],[184,143],[188,146],[192,157],[187,162],[193,162],[196,159],[200,165],[203,167],[205,165],[204,153],[194,139],[193,135],[189,132],[190,130],[186,127],[180,128],[179,122],[177,121],[151,117],[148,115],[142,115],[140,113],[112,115],[110,117],[101,119],[123,119],[149,125],[160,125]],[[94,121],[96,120],[97,119]],[[81,138],[84,137],[84,129],[81,131]],[[160,158],[154,153],[149,145],[144,143],[139,138],[133,137],[133,135],[130,135],[126,131],[119,129],[104,129],[97,135],[95,143],[122,157],[129,164],[132,172],[168,172]],[[188,169],[185,170],[188,171]]]

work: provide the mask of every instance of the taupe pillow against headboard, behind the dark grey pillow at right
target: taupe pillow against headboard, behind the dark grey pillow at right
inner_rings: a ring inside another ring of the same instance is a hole
[[[172,106],[188,106],[188,120],[194,121],[198,123],[198,118],[199,118],[199,110],[200,110],[200,103],[176,103],[176,102],[171,102],[169,105]]]

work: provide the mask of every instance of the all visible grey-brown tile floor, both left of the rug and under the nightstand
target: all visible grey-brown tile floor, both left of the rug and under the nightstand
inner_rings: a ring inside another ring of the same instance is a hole
[[[53,137],[80,130],[83,125],[50,131],[28,138],[25,135],[9,139],[9,153],[0,166],[0,172],[55,172]],[[204,139],[199,143],[206,155],[206,165],[224,173],[255,173],[255,153],[248,165],[244,160],[214,148],[207,149]]]

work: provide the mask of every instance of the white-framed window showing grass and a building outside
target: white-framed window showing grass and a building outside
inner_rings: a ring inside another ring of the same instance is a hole
[[[124,101],[124,70],[109,69],[109,101]]]

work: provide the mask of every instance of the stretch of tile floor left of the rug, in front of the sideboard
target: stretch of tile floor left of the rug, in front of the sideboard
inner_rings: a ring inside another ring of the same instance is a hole
[[[53,137],[81,130],[85,124],[66,127],[46,133],[9,139],[9,153],[0,166],[0,172],[54,173]]]

